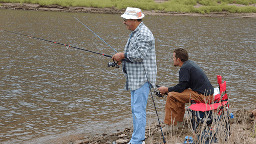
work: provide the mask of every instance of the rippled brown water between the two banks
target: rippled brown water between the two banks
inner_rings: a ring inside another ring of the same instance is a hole
[[[111,55],[115,51],[74,17],[119,52],[130,33],[120,15],[0,13],[3,30]],[[156,39],[157,84],[178,82],[172,53],[181,47],[214,87],[218,86],[217,75],[223,76],[234,108],[254,106],[255,19],[146,16],[143,21]],[[7,32],[1,32],[0,38],[0,142],[37,138],[44,143],[59,133],[95,134],[132,124],[130,92],[123,90],[121,68],[106,67],[109,57]],[[163,122],[165,99],[154,99]],[[151,96],[147,117],[148,123],[149,117],[156,119]]]

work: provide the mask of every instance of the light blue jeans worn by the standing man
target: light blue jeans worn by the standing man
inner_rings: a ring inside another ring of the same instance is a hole
[[[151,88],[152,85],[150,84]],[[133,113],[133,134],[130,143],[141,144],[145,139],[146,129],[146,104],[150,87],[148,83],[142,85],[139,89],[131,91],[131,106]]]

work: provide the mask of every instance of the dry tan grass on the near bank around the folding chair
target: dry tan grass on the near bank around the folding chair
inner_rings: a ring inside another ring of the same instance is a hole
[[[238,144],[238,143],[256,143],[256,119],[250,118],[249,114],[252,109],[242,108],[240,110],[229,109],[224,110],[223,117],[220,120],[213,119],[212,124],[206,126],[206,122],[199,124],[197,132],[193,131],[190,116],[186,116],[183,120],[185,123],[183,129],[177,132],[174,129],[170,129],[168,134],[165,134],[166,143],[183,143],[186,135],[193,136],[195,143],[206,143],[207,140],[217,141],[213,143],[225,143],[225,144]],[[230,119],[228,111],[233,111],[234,118]],[[218,114],[214,112],[214,118],[218,118]],[[230,119],[230,120],[229,120]],[[227,124],[229,127],[227,128]],[[161,124],[162,125],[162,124]],[[158,127],[158,128],[157,128]],[[163,137],[157,136],[156,131],[159,130],[158,122],[155,122],[152,126],[152,130],[147,133],[146,143],[163,143]],[[211,134],[205,134],[205,132],[211,132]]]

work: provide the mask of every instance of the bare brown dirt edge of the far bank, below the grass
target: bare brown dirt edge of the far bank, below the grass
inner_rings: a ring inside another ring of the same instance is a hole
[[[164,1],[158,0],[157,3],[162,3]],[[8,10],[29,10],[29,11],[53,11],[53,12],[77,12],[77,13],[102,13],[102,14],[122,14],[125,12],[125,9],[116,9],[112,8],[93,8],[93,7],[62,7],[59,5],[49,5],[42,6],[39,4],[19,4],[19,3],[0,3],[0,9]],[[236,5],[237,7],[242,7],[246,5]],[[196,8],[201,7],[202,5],[197,4]],[[256,4],[250,6],[256,7]],[[230,12],[210,12],[209,14],[200,14],[200,13],[183,13],[183,12],[165,12],[165,11],[147,11],[144,10],[145,15],[169,15],[169,16],[196,16],[196,17],[237,17],[237,18],[256,18],[256,13],[230,13]]]

